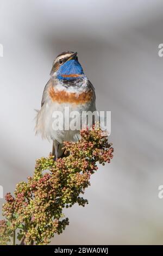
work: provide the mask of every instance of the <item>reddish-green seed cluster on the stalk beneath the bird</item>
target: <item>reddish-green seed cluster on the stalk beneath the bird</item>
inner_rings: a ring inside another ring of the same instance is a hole
[[[82,130],[78,142],[65,142],[67,157],[36,160],[34,175],[27,182],[16,185],[14,197],[5,196],[0,221],[0,243],[7,245],[17,231],[17,239],[25,245],[47,245],[55,233],[61,234],[69,224],[63,209],[75,203],[85,206],[87,200],[80,195],[90,185],[90,176],[97,163],[112,159],[113,148],[107,136],[96,126]]]

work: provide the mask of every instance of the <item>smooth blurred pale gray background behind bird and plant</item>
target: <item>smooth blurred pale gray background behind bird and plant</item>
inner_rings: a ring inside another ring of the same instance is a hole
[[[85,208],[65,211],[70,225],[52,244],[163,244],[160,0],[1,0],[0,185],[14,191],[51,144],[35,137],[35,111],[53,59],[77,51],[111,111],[114,159],[91,178]],[[3,199],[0,199],[2,209]]]

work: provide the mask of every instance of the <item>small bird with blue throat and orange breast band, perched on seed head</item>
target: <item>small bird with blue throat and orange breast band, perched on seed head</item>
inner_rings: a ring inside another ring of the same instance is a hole
[[[82,117],[83,111],[96,111],[95,89],[84,75],[78,62],[77,52],[62,52],[55,58],[50,73],[51,78],[43,90],[41,109],[36,115],[36,133],[42,138],[52,139],[52,154],[55,160],[64,153],[63,142],[76,142],[79,130],[54,130],[53,112],[65,112],[65,107],[78,111]]]

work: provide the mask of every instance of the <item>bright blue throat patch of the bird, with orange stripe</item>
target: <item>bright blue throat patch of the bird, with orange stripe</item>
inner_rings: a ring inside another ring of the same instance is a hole
[[[72,80],[85,77],[82,66],[78,60],[67,60],[57,71],[57,78],[61,80]]]

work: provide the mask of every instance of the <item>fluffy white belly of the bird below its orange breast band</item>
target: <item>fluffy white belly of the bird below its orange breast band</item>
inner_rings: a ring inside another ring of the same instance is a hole
[[[79,122],[81,123],[82,121],[81,119],[82,119],[83,111],[93,112],[96,110],[95,104],[93,104],[93,102],[85,103],[83,105],[77,105],[77,104],[71,104],[71,103],[57,103],[49,100],[42,106],[41,110],[37,113],[36,133],[41,133],[42,138],[52,139],[53,141],[56,140],[59,143],[62,143],[64,141],[72,141],[72,142],[78,141],[80,136],[79,135],[80,129],[65,130],[65,116],[64,116],[65,107],[66,107],[66,112],[67,112],[67,109],[69,109],[69,113],[71,113],[72,111],[77,111],[79,113],[79,115],[77,115],[75,118],[78,124]],[[55,115],[54,115],[54,112],[55,112]],[[62,113],[63,119],[60,120],[60,118],[58,118],[58,121],[60,122],[61,126],[59,126],[58,130],[56,130],[55,129],[56,126],[54,124],[56,123],[55,122],[57,117],[56,114],[58,113]],[[67,120],[67,115],[66,115],[66,120]],[[70,125],[71,125],[71,120],[69,119]],[[67,123],[66,123],[66,129],[67,129]]]

